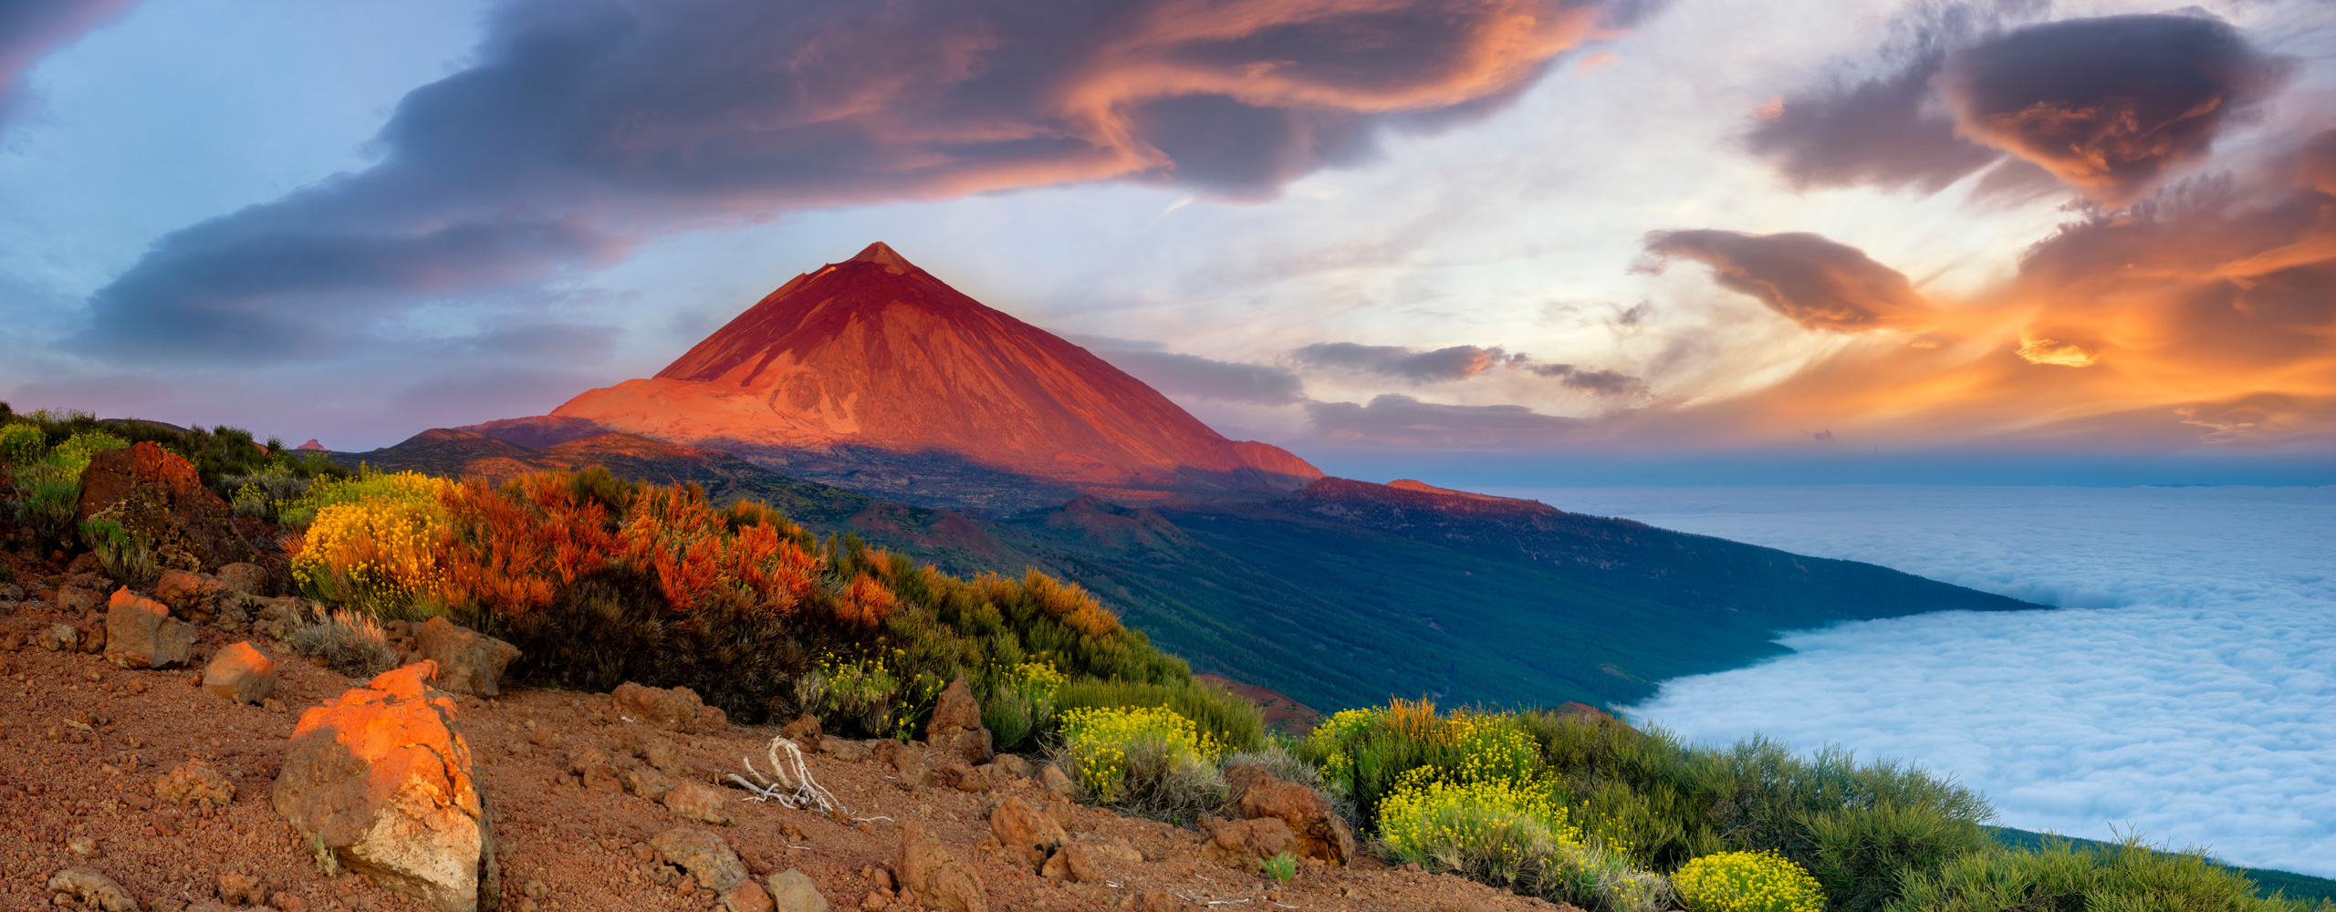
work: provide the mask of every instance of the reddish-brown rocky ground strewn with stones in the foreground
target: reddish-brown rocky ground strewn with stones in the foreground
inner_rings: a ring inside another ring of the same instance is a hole
[[[86,567],[19,567],[16,590],[0,585],[0,833],[9,835],[0,840],[0,907],[432,907],[376,877],[334,872],[271,802],[301,714],[362,681],[299,660],[262,632],[276,627],[234,613],[194,623],[185,667],[124,669],[103,648],[84,653],[54,634],[61,623],[107,627],[107,606],[93,602],[110,581]],[[201,669],[243,641],[276,660],[262,704],[201,686]],[[745,758],[769,772],[776,728],[712,714],[652,718],[640,702],[603,693],[505,688],[449,700],[477,791],[493,807],[500,889],[481,900],[500,910],[759,912],[820,900],[958,912],[1549,907],[1397,870],[1369,851],[1353,865],[1308,861],[1289,884],[1273,884],[1240,844],[1245,828],[1212,842],[1196,828],[1070,805],[1049,793],[1049,770],[1016,758],[948,767],[925,744],[797,730],[813,746],[811,777],[846,807],[820,814],[717,786],[745,772]],[[1257,826],[1257,835],[1268,833]],[[1271,837],[1287,833],[1275,823]],[[84,875],[61,879],[68,870]],[[729,886],[741,872],[750,886]],[[89,886],[86,875],[135,905]],[[911,884],[925,884],[925,896]]]

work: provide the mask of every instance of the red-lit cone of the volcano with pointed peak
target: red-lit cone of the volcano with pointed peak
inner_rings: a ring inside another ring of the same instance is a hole
[[[1142,380],[881,243],[797,275],[654,378],[477,429],[530,446],[640,434],[948,506],[1280,492],[1322,478],[1280,448],[1226,441]]]

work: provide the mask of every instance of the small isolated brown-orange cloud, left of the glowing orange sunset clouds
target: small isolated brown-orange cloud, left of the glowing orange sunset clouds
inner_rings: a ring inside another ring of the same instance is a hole
[[[1722,287],[1806,329],[1916,329],[1932,317],[1904,273],[1815,233],[1654,231],[1647,254],[1640,268],[1656,273],[1677,257],[1708,264]]]

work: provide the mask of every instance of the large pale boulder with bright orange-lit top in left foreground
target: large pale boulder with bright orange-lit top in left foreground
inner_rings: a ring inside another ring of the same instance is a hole
[[[276,812],[374,884],[439,912],[493,910],[495,826],[434,662],[374,676],[301,714]]]

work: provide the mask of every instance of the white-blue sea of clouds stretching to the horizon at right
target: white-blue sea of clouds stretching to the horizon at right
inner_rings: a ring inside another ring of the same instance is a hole
[[[2058,606],[1792,632],[1631,718],[1911,760],[2004,826],[2336,877],[2336,487],[1495,492]]]

